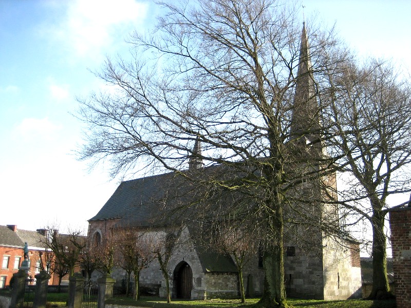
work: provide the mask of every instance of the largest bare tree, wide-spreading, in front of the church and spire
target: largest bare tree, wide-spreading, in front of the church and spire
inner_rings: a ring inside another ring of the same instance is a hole
[[[220,213],[234,215],[231,221],[252,217],[248,233],[264,249],[259,304],[286,307],[283,212],[301,202],[288,192],[325,164],[318,163],[325,158],[315,102],[328,87],[327,64],[346,54],[324,56],[336,42],[317,29],[308,48],[297,10],[275,0],[163,6],[169,13],[152,33],[132,36],[133,59],[107,59],[98,74],[112,91],[79,99],[90,126],[81,158],[109,158],[113,176],[140,163],[174,171],[198,198],[179,209],[195,210],[197,220],[218,213],[197,205],[210,205],[221,191],[241,194],[243,201]],[[188,158],[192,172],[183,172]],[[199,175],[203,164],[214,166],[206,176]]]

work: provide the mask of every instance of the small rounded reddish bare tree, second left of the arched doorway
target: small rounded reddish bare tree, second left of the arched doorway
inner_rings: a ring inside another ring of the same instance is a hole
[[[153,253],[155,239],[151,233],[139,232],[133,228],[117,229],[115,237],[115,243],[123,262],[134,274],[133,298],[138,300],[140,298],[140,272],[147,268],[156,257]]]

